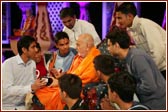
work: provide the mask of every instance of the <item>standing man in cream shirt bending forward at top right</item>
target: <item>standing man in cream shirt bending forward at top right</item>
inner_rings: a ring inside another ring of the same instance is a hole
[[[166,31],[149,19],[139,18],[134,3],[130,2],[116,9],[116,21],[132,33],[136,47],[145,50],[166,77]]]

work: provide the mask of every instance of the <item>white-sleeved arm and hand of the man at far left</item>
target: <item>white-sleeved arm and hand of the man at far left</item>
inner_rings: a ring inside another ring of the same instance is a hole
[[[2,87],[4,90],[4,93],[9,96],[24,96],[28,92],[36,91],[37,89],[40,89],[45,86],[46,82],[43,80],[37,79],[34,83],[33,80],[30,81],[29,84],[16,84],[15,79],[16,74],[14,74],[14,70],[12,69],[13,66],[10,62],[5,62],[2,66]],[[33,73],[33,71],[32,71]],[[23,79],[28,80],[28,79]]]

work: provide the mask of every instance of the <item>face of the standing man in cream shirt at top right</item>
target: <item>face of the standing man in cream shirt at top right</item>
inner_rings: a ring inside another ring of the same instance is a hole
[[[131,19],[129,15],[123,14],[121,12],[116,12],[116,22],[121,28],[127,28],[131,26]]]

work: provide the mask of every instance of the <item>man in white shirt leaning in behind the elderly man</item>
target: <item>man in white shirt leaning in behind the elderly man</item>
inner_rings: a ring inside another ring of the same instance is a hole
[[[95,46],[101,42],[95,27],[87,21],[77,19],[72,8],[63,8],[60,11],[60,18],[64,24],[63,31],[69,35],[71,47],[76,48],[78,36],[84,33],[93,36]]]

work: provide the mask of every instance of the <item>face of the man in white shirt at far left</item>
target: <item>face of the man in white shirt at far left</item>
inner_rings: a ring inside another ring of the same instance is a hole
[[[32,42],[28,48],[28,50],[25,50],[25,54],[27,55],[28,58],[34,59],[37,53],[37,48],[36,48],[36,42]]]

